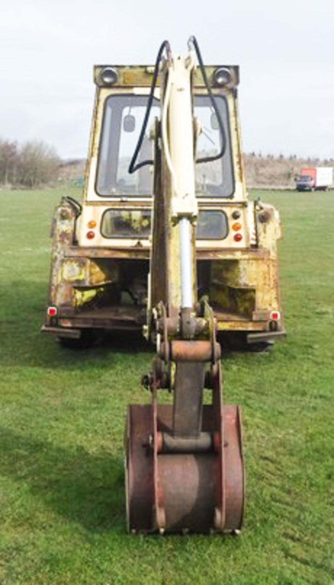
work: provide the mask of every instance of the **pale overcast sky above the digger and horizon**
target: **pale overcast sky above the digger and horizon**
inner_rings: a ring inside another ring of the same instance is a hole
[[[95,63],[154,63],[194,34],[238,64],[246,152],[334,157],[333,0],[2,0],[0,137],[88,150]]]

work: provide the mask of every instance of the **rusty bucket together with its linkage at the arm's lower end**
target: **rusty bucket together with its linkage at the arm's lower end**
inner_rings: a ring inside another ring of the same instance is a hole
[[[164,319],[166,332],[172,319]],[[210,340],[165,338],[159,353],[145,378],[152,403],[128,407],[128,530],[239,531],[241,411],[238,405],[222,404],[220,345],[214,334]],[[173,404],[158,404],[158,391],[171,386]],[[211,404],[203,404],[204,386],[211,389]]]

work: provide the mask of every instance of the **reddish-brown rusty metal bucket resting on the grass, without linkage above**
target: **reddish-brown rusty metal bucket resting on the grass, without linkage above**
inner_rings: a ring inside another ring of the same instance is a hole
[[[239,531],[244,499],[239,407],[204,405],[194,439],[175,437],[172,429],[171,405],[154,400],[128,407],[128,531]]]

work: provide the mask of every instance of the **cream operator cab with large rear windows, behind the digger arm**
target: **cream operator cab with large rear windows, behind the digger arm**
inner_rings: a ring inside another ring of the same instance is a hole
[[[109,90],[100,87],[99,84],[104,85],[101,79],[105,69],[95,68],[98,84],[95,118],[100,124],[95,126],[92,136],[89,180],[77,226],[78,242],[80,246],[89,247],[140,246],[149,249],[154,194],[152,135],[155,120],[161,119],[160,89],[155,90],[145,132],[141,136],[149,99],[147,87],[129,87],[128,91],[123,85],[120,89],[113,87]],[[144,68],[138,70],[145,79]],[[231,78],[236,84],[238,68],[231,70],[234,72]],[[123,75],[125,77],[125,72]],[[215,102],[224,135],[206,89],[199,87],[194,95],[194,116],[200,128],[196,140],[197,246],[205,246],[204,241],[210,245],[215,240],[218,246],[240,247],[245,246],[246,233],[238,234],[235,239],[233,230],[229,229],[230,216],[234,212],[238,217],[245,215],[243,225],[246,232],[246,209],[230,209],[231,201],[245,201],[242,177],[236,176],[241,170],[241,156],[235,152],[239,149],[238,127],[233,123],[235,92],[231,89],[215,92]],[[131,158],[138,142],[139,168],[130,173]],[[224,153],[217,159],[220,152]],[[215,157],[216,160],[210,160]],[[147,164],[148,161],[151,164]],[[223,208],[224,204],[228,209]]]

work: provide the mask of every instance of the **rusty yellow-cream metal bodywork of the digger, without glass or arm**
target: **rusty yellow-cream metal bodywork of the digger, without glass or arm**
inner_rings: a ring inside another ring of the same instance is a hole
[[[112,197],[100,197],[96,191],[96,173],[106,99],[110,95],[147,96],[153,68],[114,67],[117,81],[109,87],[102,81],[105,67],[94,68],[96,98],[82,210],[76,212],[71,202],[63,199],[55,211],[53,223],[48,305],[55,305],[58,308],[57,318],[64,317],[72,328],[98,326],[96,323],[98,318],[102,319],[102,309],[105,312],[108,309],[109,315],[116,316],[123,311],[127,324],[131,321],[131,315],[137,315],[133,318],[133,325],[138,327],[142,325],[142,317],[138,318],[138,315],[145,314],[147,306],[144,288],[145,280],[147,287],[151,242],[148,235],[137,237],[136,234],[147,228],[149,220],[145,214],[152,209],[152,199],[140,195],[126,198],[116,192]],[[215,69],[215,66],[206,67],[210,80],[213,79]],[[222,211],[228,222],[228,233],[224,239],[196,241],[199,294],[202,271],[202,288],[215,310],[219,330],[269,332],[273,329],[270,315],[273,311],[280,312],[277,260],[280,219],[272,206],[248,199],[238,115],[239,70],[235,66],[229,66],[229,70],[231,83],[224,88],[214,87],[213,84],[213,91],[216,95],[224,96],[228,106],[234,192],[229,198],[201,197],[200,194],[197,197],[200,213]],[[198,68],[194,74],[194,91],[196,95],[206,95]],[[156,98],[159,98],[159,92],[158,87]],[[104,214],[110,209],[119,211],[122,221],[131,228],[131,237],[106,238],[102,234],[100,226]],[[141,212],[144,212],[144,216]],[[242,236],[239,241],[234,237],[235,220],[232,214],[239,214],[238,233]],[[89,239],[88,232],[93,233],[92,239]],[[207,268],[203,270],[204,264],[207,264]],[[169,269],[173,274],[173,267]],[[131,274],[134,275],[132,280]],[[174,273],[173,276],[178,285],[179,275]],[[85,321],[85,311],[91,315],[92,310],[96,311],[95,320],[89,321],[87,316]],[[110,326],[104,320],[103,328],[112,329],[114,323],[113,316],[110,316]],[[51,320],[47,317],[46,325],[50,324]],[[58,322],[58,325],[61,323]],[[283,330],[281,315],[274,329]]]

